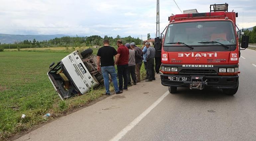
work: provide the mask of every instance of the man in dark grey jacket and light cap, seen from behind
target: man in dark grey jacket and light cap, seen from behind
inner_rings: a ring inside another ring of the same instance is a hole
[[[130,44],[131,48],[136,50],[138,53],[135,55],[135,73],[136,73],[136,82],[140,82],[140,68],[142,65],[143,52],[142,50],[135,45],[134,42]]]

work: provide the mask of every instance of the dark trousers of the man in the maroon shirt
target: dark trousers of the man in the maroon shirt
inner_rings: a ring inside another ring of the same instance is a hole
[[[119,80],[119,90],[123,90],[123,85],[124,89],[127,89],[127,65],[118,65],[117,66],[117,73],[118,73],[118,80]],[[124,80],[124,81],[123,81]]]

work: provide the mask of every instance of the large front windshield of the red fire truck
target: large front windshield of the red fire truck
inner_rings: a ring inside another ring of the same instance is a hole
[[[214,41],[223,45],[236,44],[233,24],[230,21],[170,24],[166,32],[164,46],[180,46],[181,44],[178,44],[178,42],[183,42],[190,46],[220,45]]]

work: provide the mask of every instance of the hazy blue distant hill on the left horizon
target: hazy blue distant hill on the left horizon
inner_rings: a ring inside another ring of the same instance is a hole
[[[24,41],[24,40],[31,40],[36,39],[37,41],[43,40],[50,40],[53,38],[64,37],[68,35],[56,34],[56,35],[14,35],[14,34],[0,34],[0,43],[1,44],[8,44],[14,43],[15,41]]]

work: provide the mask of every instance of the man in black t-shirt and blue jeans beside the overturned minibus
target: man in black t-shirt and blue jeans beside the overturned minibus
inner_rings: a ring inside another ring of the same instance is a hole
[[[104,85],[106,89],[106,95],[110,95],[109,91],[109,77],[110,74],[115,92],[116,94],[122,93],[119,91],[118,84],[117,84],[117,78],[116,78],[116,70],[115,70],[115,64],[118,62],[118,55],[115,48],[109,46],[108,39],[105,39],[103,41],[104,46],[99,48],[97,53],[97,70],[102,72],[103,78],[104,78]],[[114,58],[115,57],[115,61]]]

